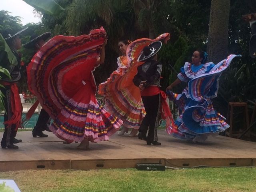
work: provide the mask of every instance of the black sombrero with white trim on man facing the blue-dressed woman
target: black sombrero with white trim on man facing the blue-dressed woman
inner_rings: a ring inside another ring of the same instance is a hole
[[[154,41],[150,43],[148,46],[143,48],[142,52],[140,53],[140,56],[138,57],[138,62],[151,58],[160,50],[161,47],[162,42],[160,41]]]

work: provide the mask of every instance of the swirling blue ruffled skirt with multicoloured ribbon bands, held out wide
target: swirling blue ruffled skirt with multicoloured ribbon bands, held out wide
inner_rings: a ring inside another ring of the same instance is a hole
[[[167,130],[168,134],[184,140],[204,141],[210,135],[225,131],[229,125],[220,113],[213,108],[211,99],[217,96],[218,79],[232,59],[230,55],[216,64],[210,72],[188,82],[182,94],[167,91],[170,100],[179,108],[179,117]]]

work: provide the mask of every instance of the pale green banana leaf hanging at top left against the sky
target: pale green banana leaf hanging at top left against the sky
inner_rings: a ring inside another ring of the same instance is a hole
[[[23,0],[35,9],[50,15],[58,15],[65,9],[54,0]]]

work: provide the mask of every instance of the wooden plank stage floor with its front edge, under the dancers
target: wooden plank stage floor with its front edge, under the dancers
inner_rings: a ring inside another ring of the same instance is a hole
[[[62,144],[50,132],[48,138],[33,138],[31,131],[18,132],[18,150],[0,149],[0,171],[23,169],[133,168],[136,163],[161,163],[172,167],[256,166],[256,143],[209,137],[205,143],[190,143],[158,131],[162,146],[147,146],[137,137],[113,135],[109,141],[90,143],[88,150],[78,144]],[[2,138],[0,133],[0,137]]]

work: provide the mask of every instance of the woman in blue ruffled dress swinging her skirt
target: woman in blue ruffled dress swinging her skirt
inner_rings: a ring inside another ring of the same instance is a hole
[[[218,134],[229,128],[225,118],[213,108],[211,99],[217,96],[218,79],[232,59],[230,55],[218,64],[206,63],[207,53],[196,50],[192,62],[186,62],[178,78],[166,88],[167,95],[178,105],[179,116],[167,129],[174,137],[194,142],[203,142],[209,135]],[[182,94],[171,92],[172,88],[187,82]]]

